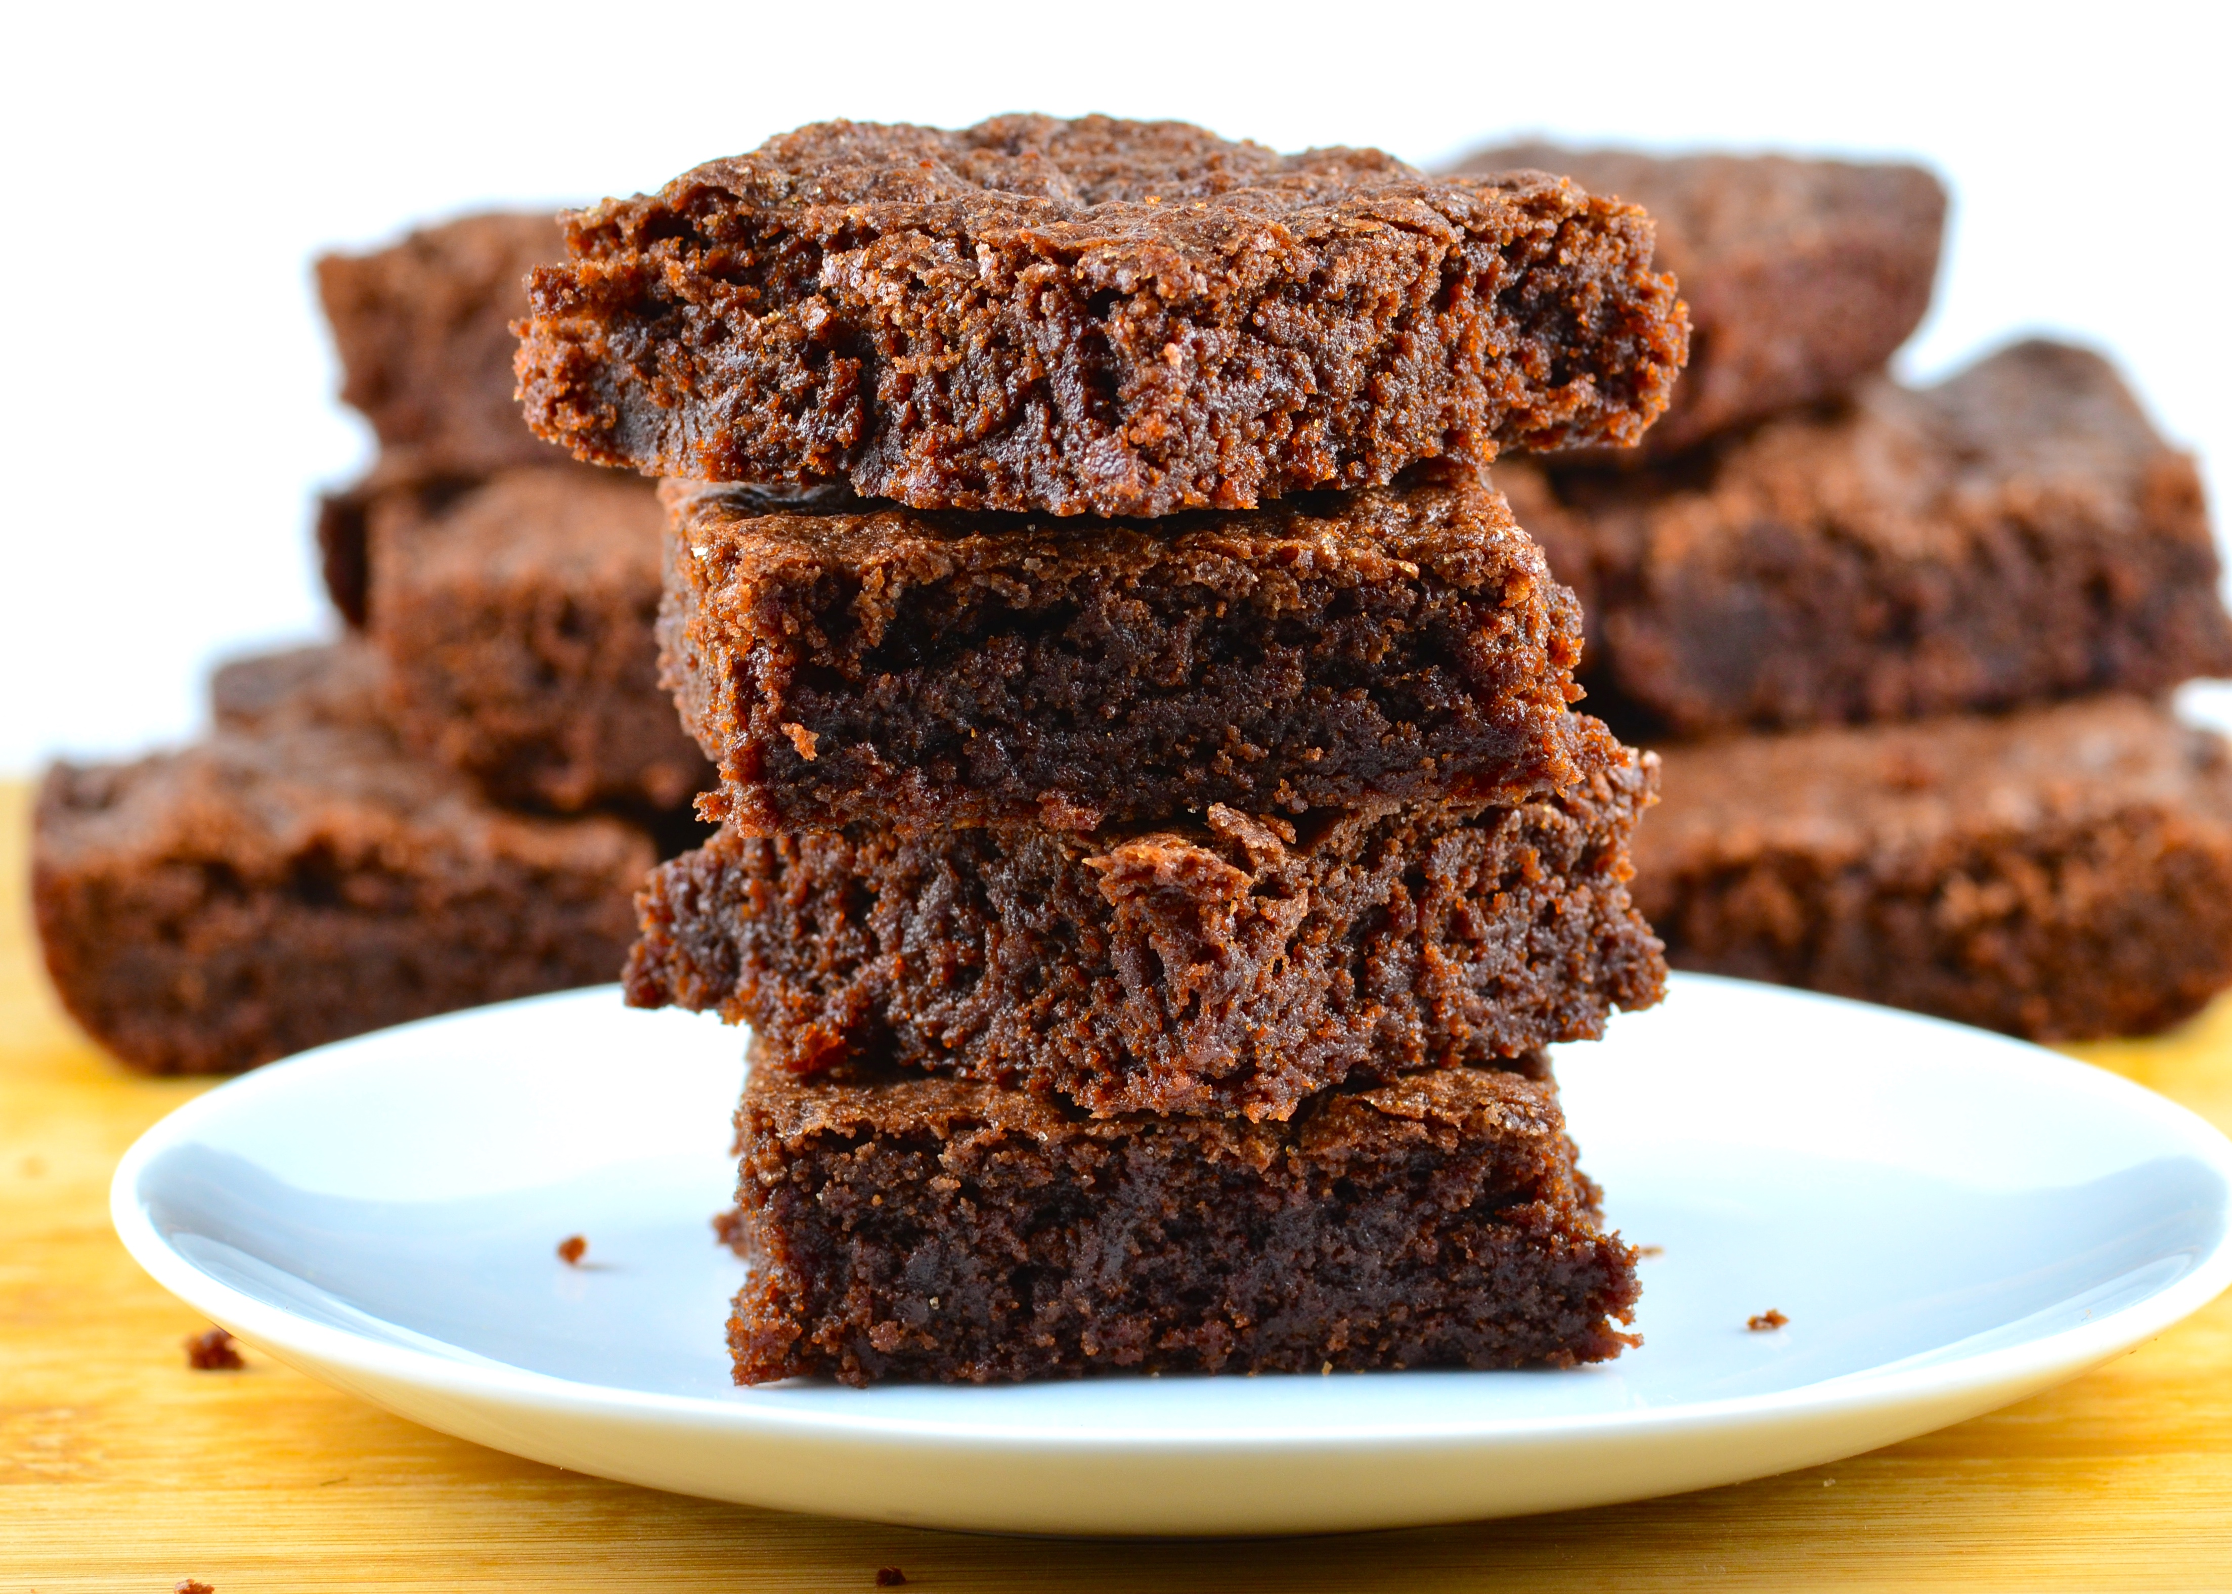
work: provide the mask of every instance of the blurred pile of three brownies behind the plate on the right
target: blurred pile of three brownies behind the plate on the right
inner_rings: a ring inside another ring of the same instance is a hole
[[[2033,1038],[2232,985],[2232,674],[2194,462],[2098,355],[1882,364],[1937,263],[1908,167],[1491,150],[1649,205],[1696,357],[1643,451],[1498,464],[1580,592],[1591,705],[1665,750],[1674,964]]]

